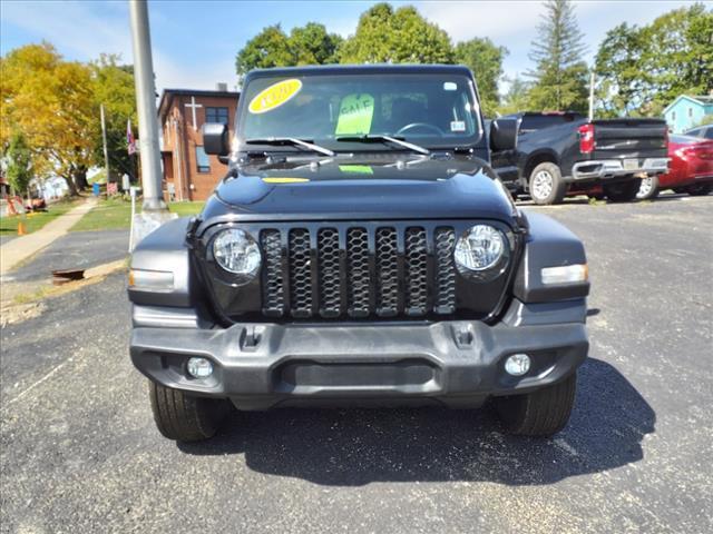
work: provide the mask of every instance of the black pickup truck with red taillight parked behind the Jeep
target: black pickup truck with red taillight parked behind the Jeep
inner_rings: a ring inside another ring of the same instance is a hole
[[[492,166],[514,195],[557,204],[568,189],[602,186],[613,201],[636,197],[641,178],[667,170],[666,122],[589,121],[579,113],[516,113],[517,147],[496,150]]]

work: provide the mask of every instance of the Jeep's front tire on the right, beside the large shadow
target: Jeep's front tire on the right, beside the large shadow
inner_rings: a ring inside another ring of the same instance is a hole
[[[577,374],[564,382],[525,395],[496,397],[496,408],[506,428],[522,436],[551,436],[569,421],[575,404]]]

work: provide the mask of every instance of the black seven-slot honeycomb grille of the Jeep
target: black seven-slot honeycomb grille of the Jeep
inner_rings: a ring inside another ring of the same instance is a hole
[[[423,317],[456,310],[452,227],[263,228],[263,313],[271,317]]]

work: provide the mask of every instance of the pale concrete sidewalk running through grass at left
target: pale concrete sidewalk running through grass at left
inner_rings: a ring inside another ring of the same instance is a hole
[[[18,264],[47,247],[58,237],[67,234],[69,228],[96,205],[96,199],[89,198],[85,204],[70,209],[65,215],[60,215],[39,230],[27,236],[17,237],[2,245],[0,247],[0,276],[7,275]]]

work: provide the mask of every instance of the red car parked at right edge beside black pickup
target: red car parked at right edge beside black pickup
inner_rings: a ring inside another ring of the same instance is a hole
[[[671,136],[668,157],[668,172],[643,179],[637,198],[655,198],[663,189],[688,195],[707,195],[713,190],[713,140]]]

